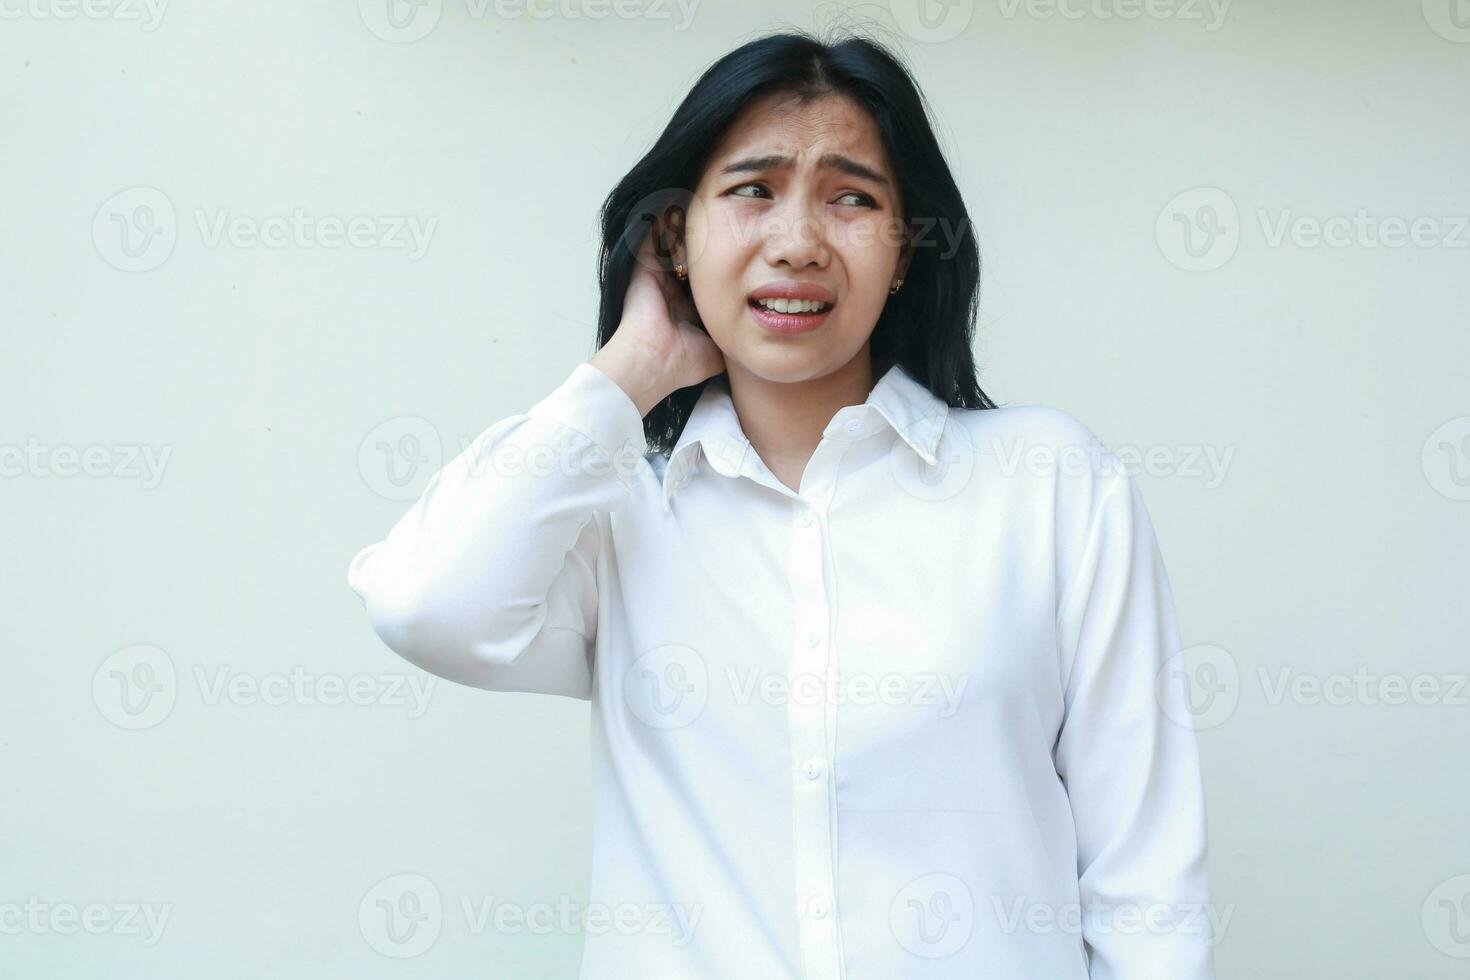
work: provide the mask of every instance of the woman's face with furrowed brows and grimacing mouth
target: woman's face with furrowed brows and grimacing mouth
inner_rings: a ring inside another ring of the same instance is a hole
[[[856,103],[753,104],[714,150],[689,203],[689,288],[726,369],[772,382],[820,378],[867,353],[908,266],[898,181]],[[753,298],[801,285],[816,314],[761,311]]]

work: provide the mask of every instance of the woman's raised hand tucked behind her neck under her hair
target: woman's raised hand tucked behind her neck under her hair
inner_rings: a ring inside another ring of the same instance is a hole
[[[623,317],[591,363],[648,411],[679,388],[725,370],[725,356],[697,326],[698,311],[672,272],[659,266],[653,225],[638,248],[623,298]]]

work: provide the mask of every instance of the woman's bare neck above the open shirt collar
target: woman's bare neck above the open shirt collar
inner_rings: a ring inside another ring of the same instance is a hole
[[[806,466],[839,410],[867,401],[873,361],[867,344],[842,367],[801,382],[773,382],[728,366],[731,401],[745,438],[766,466]]]

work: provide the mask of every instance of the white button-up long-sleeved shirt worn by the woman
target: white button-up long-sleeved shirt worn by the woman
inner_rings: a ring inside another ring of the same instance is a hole
[[[582,363],[348,572],[423,670],[591,702],[584,980],[1213,979],[1173,598],[1082,423],[892,367],[794,491],[719,378],[645,450]]]

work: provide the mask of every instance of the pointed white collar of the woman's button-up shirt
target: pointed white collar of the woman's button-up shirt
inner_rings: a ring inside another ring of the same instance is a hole
[[[935,466],[939,461],[936,448],[948,413],[950,406],[944,400],[914,381],[901,364],[894,364],[878,379],[863,404],[838,410],[822,435],[828,439],[856,441],[873,435],[886,425],[925,463]],[[722,476],[738,476],[753,454],[750,439],[741,430],[735,414],[729,381],[717,375],[700,392],[700,400],[689,411],[689,419],[669,453],[663,473],[664,507],[669,505],[675,491],[698,472],[700,458],[709,460],[714,472]]]

